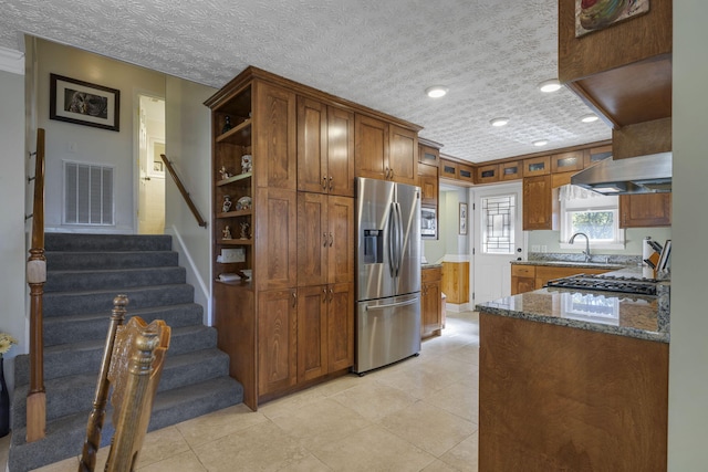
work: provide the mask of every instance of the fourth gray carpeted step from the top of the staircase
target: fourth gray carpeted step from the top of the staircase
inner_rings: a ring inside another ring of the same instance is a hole
[[[194,287],[187,284],[152,285],[119,290],[52,292],[44,294],[44,316],[63,316],[113,310],[116,295],[128,296],[128,310],[194,302]]]

